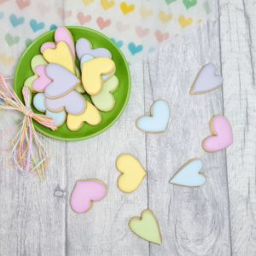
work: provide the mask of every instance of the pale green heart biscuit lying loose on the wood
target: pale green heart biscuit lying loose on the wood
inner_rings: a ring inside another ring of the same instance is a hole
[[[144,210],[141,217],[133,217],[129,221],[130,230],[146,241],[154,242],[158,245],[162,243],[160,226],[154,213],[149,209]]]

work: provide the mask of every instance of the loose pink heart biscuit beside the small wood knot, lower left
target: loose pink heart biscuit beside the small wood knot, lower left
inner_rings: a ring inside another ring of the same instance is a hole
[[[74,212],[88,212],[93,201],[101,201],[107,195],[107,187],[96,179],[79,180],[73,188],[70,206]]]

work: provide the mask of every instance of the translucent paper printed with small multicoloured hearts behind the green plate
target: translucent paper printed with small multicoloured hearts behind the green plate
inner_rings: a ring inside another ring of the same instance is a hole
[[[47,19],[44,18],[46,13]],[[140,0],[132,3],[78,0],[75,4],[67,2],[65,9],[56,8],[51,2],[6,1],[1,4],[0,26],[9,29],[0,35],[0,40],[5,42],[0,54],[6,55],[8,50],[13,54],[15,49],[15,55],[19,56],[40,34],[65,22],[104,33],[132,64],[158,49],[160,44],[197,26],[199,20],[207,20],[210,15],[211,6],[204,0]],[[15,61],[4,58],[0,60],[0,68],[4,72],[4,68]]]

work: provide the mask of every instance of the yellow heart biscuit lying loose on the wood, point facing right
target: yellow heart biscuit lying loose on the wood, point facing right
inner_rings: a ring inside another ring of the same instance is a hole
[[[147,175],[141,163],[132,154],[120,154],[116,168],[122,174],[118,177],[118,187],[124,193],[135,191]]]

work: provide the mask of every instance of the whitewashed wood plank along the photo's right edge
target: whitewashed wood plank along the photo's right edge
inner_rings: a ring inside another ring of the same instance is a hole
[[[233,255],[256,254],[256,1],[220,0],[224,113],[233,127],[227,149]]]

